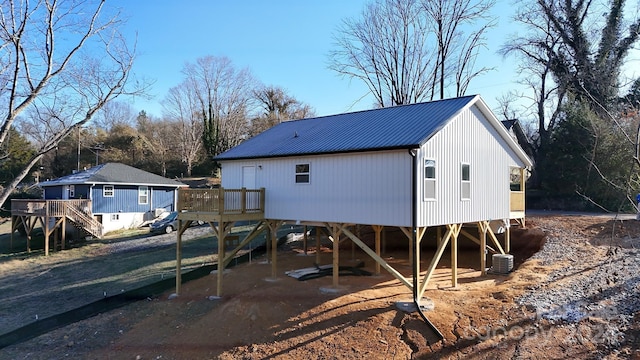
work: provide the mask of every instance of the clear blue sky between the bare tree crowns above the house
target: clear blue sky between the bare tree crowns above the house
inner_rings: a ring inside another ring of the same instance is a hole
[[[136,99],[134,110],[159,117],[160,102],[182,81],[185,62],[199,57],[226,56],[237,68],[249,68],[262,83],[284,88],[315,109],[318,116],[372,107],[359,80],[340,77],[327,68],[334,48],[332,36],[344,18],[359,17],[365,0],[210,1],[114,0],[128,17],[123,29],[137,33],[139,57],[134,72],[153,79],[152,100]],[[515,86],[510,62],[497,55],[512,31],[511,8],[498,1],[499,26],[478,66],[495,67],[471,83],[468,94],[479,93],[490,107]],[[363,99],[363,97],[365,97]]]

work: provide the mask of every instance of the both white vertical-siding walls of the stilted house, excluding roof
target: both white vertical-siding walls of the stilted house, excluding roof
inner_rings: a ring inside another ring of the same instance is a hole
[[[424,199],[424,159],[436,161],[436,199]],[[296,164],[310,182],[295,183]],[[471,196],[462,200],[461,164],[471,167]],[[242,167],[256,167],[270,219],[412,226],[413,158],[407,150],[225,161],[222,186],[242,187]],[[418,152],[418,226],[509,218],[509,169],[522,161],[473,106]]]

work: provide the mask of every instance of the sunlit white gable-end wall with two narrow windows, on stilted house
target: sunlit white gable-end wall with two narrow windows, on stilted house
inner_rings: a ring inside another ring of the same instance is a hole
[[[425,200],[420,186],[419,226],[509,218],[509,167],[522,163],[475,106],[431,138],[420,158],[436,159],[436,200]],[[463,163],[471,166],[470,200],[461,199]]]

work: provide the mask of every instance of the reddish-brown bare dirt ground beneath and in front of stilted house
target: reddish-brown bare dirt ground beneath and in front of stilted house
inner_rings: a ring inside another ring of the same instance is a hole
[[[640,237],[640,225],[633,220],[530,217],[526,229],[512,231],[515,271],[485,276],[479,271],[477,246],[461,242],[466,250],[459,254],[458,286],[451,287],[447,251],[425,292],[434,304],[425,315],[444,335],[442,341],[418,313],[398,308],[398,302],[412,299],[411,291],[384,269],[375,274],[373,260],[357,249],[344,247],[341,264],[364,261],[372,276],[343,276],[338,288],[332,287],[330,276],[307,281],[287,276],[285,271],[315,261],[315,255],[302,255],[301,244],[292,242],[278,253],[276,278],[271,277],[266,258],[254,259],[225,272],[221,298],[213,296],[216,275],[212,274],[184,284],[175,299],[169,299],[169,291],[100,314],[0,349],[0,358],[640,359],[640,314],[625,334],[627,341],[611,349],[586,333],[606,319],[589,318],[567,326],[540,319],[535,309],[516,301],[555,269],[567,266],[529,259],[549,231],[579,246],[585,256],[572,261],[587,268],[606,262],[612,243]],[[330,264],[331,253],[325,250],[321,263]],[[432,250],[422,255],[423,269]],[[387,249],[383,257],[410,276],[406,250]],[[630,295],[636,296],[633,301],[638,301],[637,294]]]

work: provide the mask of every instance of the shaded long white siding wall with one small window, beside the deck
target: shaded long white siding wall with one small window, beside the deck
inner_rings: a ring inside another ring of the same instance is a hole
[[[310,164],[309,184],[295,183],[296,164]],[[406,150],[224,162],[222,186],[242,184],[255,165],[271,219],[411,225],[412,158]]]

